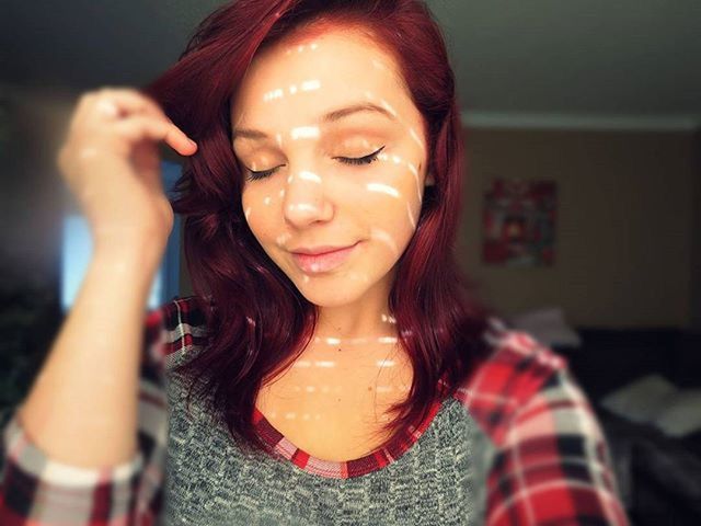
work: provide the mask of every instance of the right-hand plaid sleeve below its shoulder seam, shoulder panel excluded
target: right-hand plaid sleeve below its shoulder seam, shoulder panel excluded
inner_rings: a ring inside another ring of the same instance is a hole
[[[609,446],[559,368],[512,415],[487,473],[487,526],[629,526]]]

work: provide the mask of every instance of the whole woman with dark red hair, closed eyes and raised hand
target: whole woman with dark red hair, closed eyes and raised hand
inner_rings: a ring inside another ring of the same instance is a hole
[[[0,518],[628,524],[566,363],[453,262],[459,129],[415,0],[238,1],[141,92],[87,95],[59,162],[96,255],[8,426]],[[137,412],[159,140],[196,294],[149,313]]]

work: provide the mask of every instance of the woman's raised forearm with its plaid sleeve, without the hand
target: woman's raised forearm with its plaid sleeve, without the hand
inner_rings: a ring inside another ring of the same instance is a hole
[[[67,321],[43,368],[46,379],[37,377],[3,430],[0,524],[108,525],[126,516],[151,524],[159,513],[166,437],[160,347],[171,309],[145,321],[146,282],[108,273],[110,262],[96,265],[70,315],[82,315],[80,323],[71,329]],[[95,284],[101,291],[92,297]],[[84,419],[66,407],[73,400]],[[95,425],[100,419],[105,426]]]

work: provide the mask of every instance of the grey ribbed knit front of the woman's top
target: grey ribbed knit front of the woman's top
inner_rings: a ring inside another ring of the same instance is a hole
[[[182,410],[185,386],[171,378],[169,525],[478,525],[494,454],[475,421],[448,399],[418,439],[376,471],[342,479],[286,458],[246,456],[202,408]],[[330,472],[341,462],[329,462]],[[333,467],[332,467],[333,466]]]

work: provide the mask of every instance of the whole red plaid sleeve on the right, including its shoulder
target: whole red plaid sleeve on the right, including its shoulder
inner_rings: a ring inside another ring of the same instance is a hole
[[[628,525],[609,446],[566,359],[506,331],[460,391],[496,455],[485,524]]]

